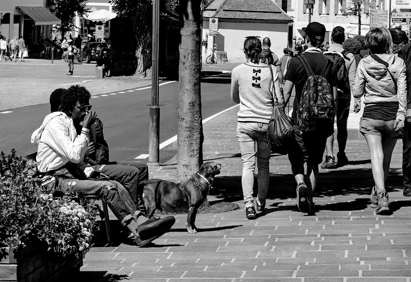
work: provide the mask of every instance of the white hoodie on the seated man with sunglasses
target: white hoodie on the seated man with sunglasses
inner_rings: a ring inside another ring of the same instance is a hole
[[[41,127],[31,135],[38,145],[37,166],[40,172],[62,168],[68,162],[80,163],[88,145],[88,129],[77,136],[73,120],[63,112],[48,114]]]

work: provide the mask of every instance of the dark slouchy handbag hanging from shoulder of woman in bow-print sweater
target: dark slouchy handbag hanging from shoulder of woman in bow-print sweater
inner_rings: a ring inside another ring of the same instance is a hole
[[[275,95],[274,89],[273,70],[271,66],[269,68],[273,77],[273,113],[268,124],[268,137],[270,139],[271,152],[286,155],[288,154],[290,144],[292,144],[291,140],[294,138],[294,131],[290,118],[278,104],[278,98]]]

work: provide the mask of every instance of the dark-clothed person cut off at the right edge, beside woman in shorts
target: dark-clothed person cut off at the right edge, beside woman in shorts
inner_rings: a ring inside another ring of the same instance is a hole
[[[391,30],[390,30],[391,31]],[[402,31],[402,30],[401,30]],[[393,35],[393,41],[396,44],[404,44],[406,39],[406,34],[400,32],[398,29],[394,31],[396,34],[393,34],[391,31],[391,35]],[[405,32],[404,32],[405,33]],[[402,34],[402,35],[400,35]],[[404,177],[404,189],[402,194],[404,196],[410,197],[411,196],[411,43],[407,43],[402,46],[402,48],[398,52],[398,57],[402,58],[405,62],[406,70],[406,79],[407,79],[407,112],[406,112],[406,120],[404,125],[404,132],[402,133],[402,174]]]

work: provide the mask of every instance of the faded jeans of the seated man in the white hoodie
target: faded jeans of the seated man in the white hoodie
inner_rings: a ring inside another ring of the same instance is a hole
[[[123,226],[128,225],[133,216],[140,215],[136,212],[136,206],[128,191],[116,181],[59,178],[58,187],[65,193],[77,192],[84,196],[102,197]]]

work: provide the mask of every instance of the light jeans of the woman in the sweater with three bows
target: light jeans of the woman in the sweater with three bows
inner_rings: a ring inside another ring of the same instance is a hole
[[[258,168],[258,199],[261,205],[266,203],[268,184],[270,181],[271,148],[268,140],[268,124],[255,122],[238,122],[237,139],[242,158],[242,194],[246,206],[253,204],[253,186],[255,156]],[[257,142],[257,151],[255,143]]]

